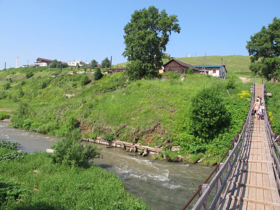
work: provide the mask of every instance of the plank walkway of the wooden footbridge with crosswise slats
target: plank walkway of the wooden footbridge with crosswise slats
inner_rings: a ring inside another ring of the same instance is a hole
[[[255,84],[254,100],[257,96],[264,99],[262,84]],[[272,164],[264,120],[252,116],[224,209],[280,209]]]

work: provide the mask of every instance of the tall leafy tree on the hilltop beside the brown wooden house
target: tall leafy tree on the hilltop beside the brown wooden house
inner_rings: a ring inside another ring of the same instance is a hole
[[[180,33],[176,15],[150,6],[135,10],[130,22],[124,26],[124,57],[128,58],[126,71],[131,79],[152,77],[163,65],[163,52],[169,42],[171,31]]]

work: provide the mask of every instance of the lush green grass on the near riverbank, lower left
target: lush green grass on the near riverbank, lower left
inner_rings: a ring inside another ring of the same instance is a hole
[[[0,152],[12,150],[0,148]],[[98,166],[83,169],[54,164],[42,152],[28,154],[21,161],[0,161],[0,185],[4,184],[18,186],[16,192],[22,194],[16,202],[0,200],[1,209],[149,209],[113,173]]]

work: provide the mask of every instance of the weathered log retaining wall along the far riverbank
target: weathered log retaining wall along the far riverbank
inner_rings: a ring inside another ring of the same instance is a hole
[[[122,141],[117,141],[117,140],[113,140],[110,142],[110,141],[106,141],[102,138],[96,138],[96,139],[83,138],[83,141],[104,144],[104,145],[108,145],[108,146],[112,146],[112,147],[119,147],[128,152],[138,152],[138,150],[141,149],[141,150],[144,150],[145,152],[147,152],[148,155],[158,155],[160,152],[162,152],[161,149],[147,147],[147,146],[141,146],[139,144],[122,142]]]

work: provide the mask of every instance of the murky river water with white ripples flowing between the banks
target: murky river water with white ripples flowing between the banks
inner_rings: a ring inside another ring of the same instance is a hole
[[[57,140],[52,135],[9,128],[8,124],[0,121],[0,139],[19,142],[19,149],[26,152],[45,151]],[[103,147],[103,159],[94,163],[118,175],[130,193],[142,197],[153,209],[182,208],[212,171],[199,164],[152,160],[150,156],[130,156],[120,148],[98,146]]]

